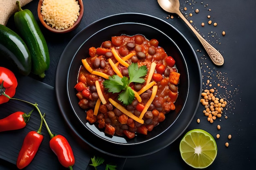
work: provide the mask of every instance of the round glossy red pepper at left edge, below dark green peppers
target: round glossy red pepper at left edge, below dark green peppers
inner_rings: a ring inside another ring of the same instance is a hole
[[[0,67],[0,104],[9,101],[9,98],[13,97],[18,86],[17,79],[12,71],[7,68]]]

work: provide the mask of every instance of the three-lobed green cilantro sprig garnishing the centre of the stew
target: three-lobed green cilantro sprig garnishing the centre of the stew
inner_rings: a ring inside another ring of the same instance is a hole
[[[128,66],[128,77],[119,77],[118,75],[112,75],[109,79],[103,82],[105,88],[108,88],[109,93],[119,93],[118,100],[123,102],[124,105],[129,105],[135,99],[134,92],[129,86],[131,82],[144,83],[145,80],[141,77],[147,74],[147,67],[139,67],[137,63],[132,63]]]

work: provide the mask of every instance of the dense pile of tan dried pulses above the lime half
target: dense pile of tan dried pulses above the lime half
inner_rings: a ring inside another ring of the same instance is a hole
[[[210,90],[206,89],[202,93],[202,98],[200,99],[200,102],[205,108],[203,113],[207,116],[207,120],[210,123],[213,123],[217,117],[220,118],[222,116],[223,108],[227,105],[227,102],[224,101],[223,98],[219,99],[216,97],[214,92],[214,88],[211,88]]]

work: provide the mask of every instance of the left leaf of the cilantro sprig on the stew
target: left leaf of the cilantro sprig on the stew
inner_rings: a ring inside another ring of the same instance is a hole
[[[110,76],[109,79],[103,82],[103,85],[105,88],[108,88],[108,92],[112,93],[119,93],[126,86],[118,75]]]

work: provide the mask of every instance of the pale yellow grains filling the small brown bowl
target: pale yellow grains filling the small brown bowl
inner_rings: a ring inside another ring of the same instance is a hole
[[[43,0],[41,14],[52,28],[61,30],[72,26],[80,15],[76,0]]]

